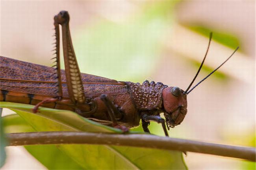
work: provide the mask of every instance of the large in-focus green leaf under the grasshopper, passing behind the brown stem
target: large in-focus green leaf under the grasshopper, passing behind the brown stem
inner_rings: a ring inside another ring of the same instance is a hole
[[[34,114],[31,105],[0,104],[18,113],[37,131],[120,133],[66,110],[40,108],[40,112]],[[62,144],[58,148],[84,169],[186,169],[182,153],[176,151],[92,144]]]

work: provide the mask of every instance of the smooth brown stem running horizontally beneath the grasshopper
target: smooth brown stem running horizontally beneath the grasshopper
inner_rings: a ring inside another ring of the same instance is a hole
[[[31,144],[108,144],[197,152],[241,158],[249,161],[255,161],[256,159],[256,150],[251,147],[230,146],[146,134],[121,135],[87,132],[28,132],[9,133],[7,139],[9,141],[8,146]]]

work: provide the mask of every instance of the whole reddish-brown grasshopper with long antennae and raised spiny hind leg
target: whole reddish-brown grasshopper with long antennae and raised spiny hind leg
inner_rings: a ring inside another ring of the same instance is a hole
[[[60,69],[59,62],[59,25],[62,29],[63,55],[65,70]],[[219,69],[236,50],[219,67],[190,89],[195,81],[202,63],[187,89],[168,87],[161,82],[144,81],[142,84],[121,82],[95,75],[80,73],[69,30],[69,13],[61,11],[54,17],[56,31],[55,59],[53,68],[0,57],[0,101],[33,104],[33,112],[39,106],[72,110],[83,117],[96,122],[120,128],[139,125],[149,133],[150,121],[161,123],[165,135],[167,128],[180,124],[187,114],[187,94],[203,80]],[[189,90],[190,89],[190,90]],[[160,117],[164,113],[165,119]]]

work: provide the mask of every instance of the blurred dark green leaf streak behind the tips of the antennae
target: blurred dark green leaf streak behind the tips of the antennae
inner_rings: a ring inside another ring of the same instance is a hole
[[[195,31],[201,35],[209,37],[210,32],[213,32],[212,39],[224,46],[227,46],[232,49],[236,49],[237,46],[240,46],[239,39],[230,33],[225,33],[224,31],[214,30],[204,26],[188,26],[189,29]],[[241,50],[241,47],[239,48]]]

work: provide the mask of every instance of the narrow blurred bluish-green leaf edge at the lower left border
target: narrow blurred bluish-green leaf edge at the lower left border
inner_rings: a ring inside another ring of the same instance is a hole
[[[4,147],[6,146],[6,139],[4,135],[4,128],[2,125],[2,110],[3,108],[0,108],[0,168],[4,165],[6,160],[6,152]]]

